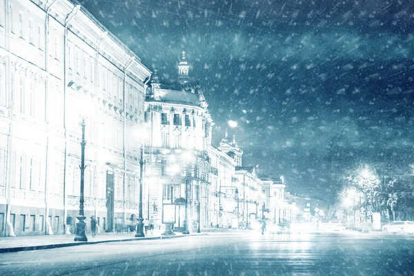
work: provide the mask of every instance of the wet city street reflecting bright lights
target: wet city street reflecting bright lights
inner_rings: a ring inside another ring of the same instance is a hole
[[[1,275],[414,275],[414,236],[228,230],[0,254]]]

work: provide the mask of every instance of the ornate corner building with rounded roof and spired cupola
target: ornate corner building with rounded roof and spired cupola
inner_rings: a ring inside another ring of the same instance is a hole
[[[161,83],[157,70],[146,90],[146,216],[161,224],[163,204],[177,203],[175,228],[184,221],[187,186],[189,223],[208,224],[208,191],[213,120],[182,52],[178,78]],[[191,229],[190,229],[191,230]]]

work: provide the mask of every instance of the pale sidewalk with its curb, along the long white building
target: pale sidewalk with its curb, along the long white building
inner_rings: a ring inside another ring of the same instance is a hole
[[[135,240],[150,240],[150,239],[172,239],[177,237],[188,237],[195,235],[207,235],[206,233],[190,233],[190,235],[183,235],[176,233],[175,236],[163,236],[164,230],[154,230],[153,234],[148,234],[145,237],[135,237],[135,233],[101,233],[92,237],[86,235],[88,242],[74,242],[75,234],[72,235],[34,235],[34,236],[19,236],[19,237],[0,237],[0,253],[27,251],[27,250],[41,250],[48,248],[59,248],[67,246],[80,246],[83,244],[101,244],[103,242],[126,242]]]

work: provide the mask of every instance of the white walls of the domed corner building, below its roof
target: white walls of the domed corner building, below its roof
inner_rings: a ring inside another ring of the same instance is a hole
[[[200,224],[201,227],[207,226],[210,193],[208,149],[212,133],[209,113],[199,106],[166,103],[162,99],[146,101],[145,110],[149,133],[144,135],[148,163],[144,206],[148,206],[150,201],[150,212],[147,207],[146,216],[153,217],[156,224],[161,225],[162,206],[171,202],[171,184],[172,200],[185,197],[186,176],[193,176],[193,180],[188,182],[188,220],[190,226],[194,224],[198,217],[197,204],[200,204]],[[174,121],[175,115],[179,115],[179,121]],[[166,121],[163,121],[163,116],[166,116]],[[186,155],[190,155],[190,159]],[[208,160],[204,157],[208,157]],[[177,207],[175,227],[183,226],[184,210],[185,206]]]

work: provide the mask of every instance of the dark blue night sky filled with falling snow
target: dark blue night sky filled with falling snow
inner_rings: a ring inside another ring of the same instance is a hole
[[[414,1],[81,1],[164,79],[181,51],[244,165],[329,199],[360,164],[414,163]]]

